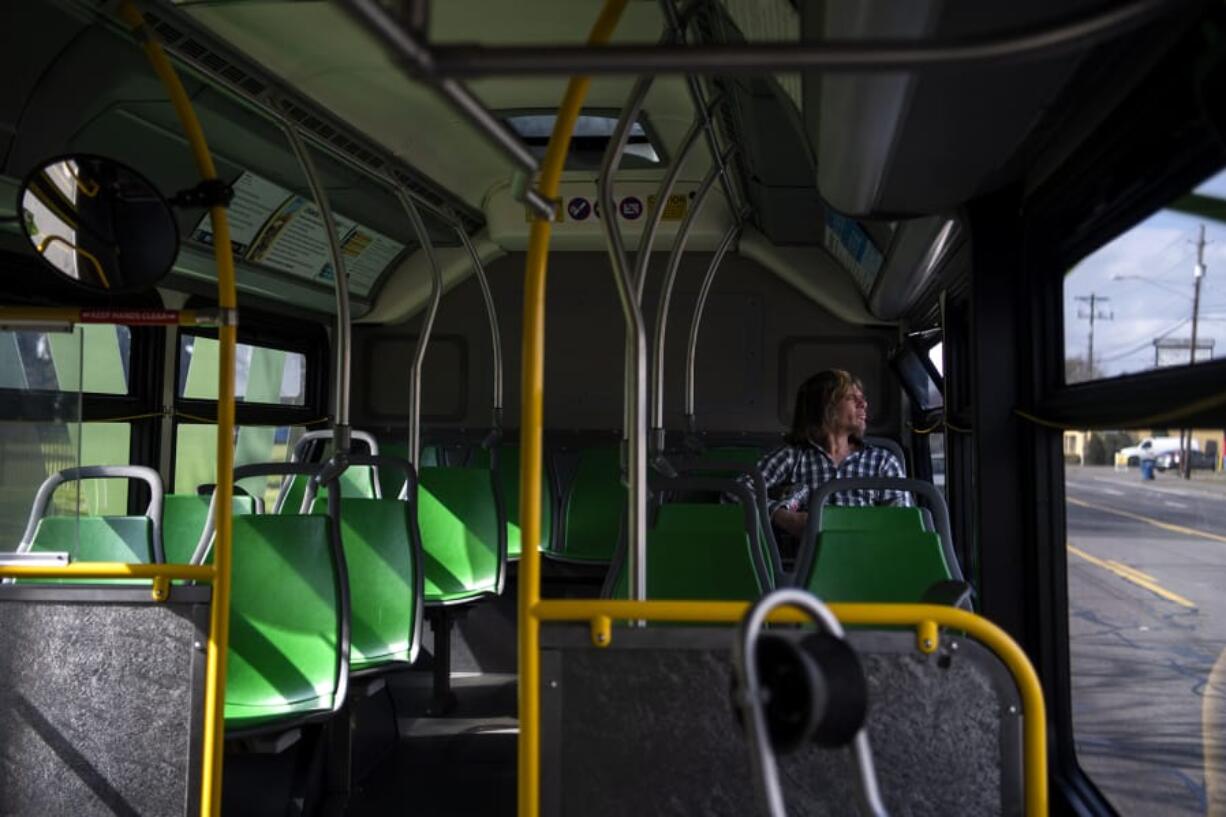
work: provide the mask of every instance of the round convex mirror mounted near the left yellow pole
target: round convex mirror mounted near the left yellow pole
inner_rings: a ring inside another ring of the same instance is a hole
[[[166,199],[114,159],[50,159],[17,195],[22,227],[39,258],[88,290],[151,287],[179,253],[179,227]]]

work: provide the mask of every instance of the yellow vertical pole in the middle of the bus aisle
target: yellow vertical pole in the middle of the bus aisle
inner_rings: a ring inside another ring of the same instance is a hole
[[[626,0],[606,0],[587,37],[588,45],[607,43]],[[558,195],[562,169],[582,109],[591,77],[576,76],[566,86],[549,146],[541,166],[539,190],[549,200]],[[519,816],[537,817],[541,810],[541,624],[533,607],[541,599],[541,443],[544,397],[544,291],[549,261],[550,222],[537,217],[528,237],[524,272],[524,370],[520,394],[520,526],[525,542],[520,557],[519,659]]]

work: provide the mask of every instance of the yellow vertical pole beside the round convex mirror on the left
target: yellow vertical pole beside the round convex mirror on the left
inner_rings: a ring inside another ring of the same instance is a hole
[[[153,71],[162,80],[179,124],[188,136],[200,178],[217,178],[208,145],[196,112],[191,107],[179,75],[162,50],[161,43],[146,28],[145,18],[123,0],[119,15],[141,39]],[[208,651],[205,670],[205,735],[201,750],[200,813],[216,817],[221,813],[222,747],[226,737],[226,650],[229,644],[230,546],[233,542],[234,496],[234,343],[238,326],[238,296],[234,290],[234,255],[230,249],[229,222],[226,207],[208,210],[213,227],[213,256],[217,263],[217,304],[222,321],[219,366],[217,374],[217,539],[213,543],[213,595],[208,621]]]

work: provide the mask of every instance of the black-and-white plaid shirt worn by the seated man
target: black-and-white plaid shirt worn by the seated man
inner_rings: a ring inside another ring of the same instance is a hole
[[[830,480],[906,476],[899,458],[889,450],[863,444],[839,465],[835,465],[830,455],[814,443],[783,445],[759,460],[758,470],[761,471],[766,491],[771,497],[767,503],[771,514],[780,507],[808,510],[810,491]],[[830,497],[829,504],[910,507],[912,503],[911,494],[906,491],[857,488],[835,493]]]

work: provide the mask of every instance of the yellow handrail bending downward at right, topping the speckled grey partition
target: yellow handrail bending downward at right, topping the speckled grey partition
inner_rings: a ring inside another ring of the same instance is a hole
[[[520,590],[524,593],[522,588]],[[608,619],[671,621],[671,622],[738,622],[749,604],[744,601],[622,601],[611,599],[544,600],[532,606],[531,616],[541,621],[590,622],[593,632]],[[866,605],[832,604],[830,611],[843,624],[873,627],[916,627],[931,632],[934,626],[959,629],[991,649],[1013,673],[1021,694],[1022,756],[1025,764],[1025,813],[1027,817],[1047,815],[1047,708],[1038,675],[1026,654],[1008,633],[982,616],[942,605]],[[808,622],[797,610],[780,610],[771,616],[779,622]],[[602,639],[608,645],[608,638]],[[935,645],[933,645],[934,648]],[[927,648],[921,646],[924,651]],[[521,692],[522,694],[522,692]],[[538,721],[520,721],[520,734],[537,732]]]

